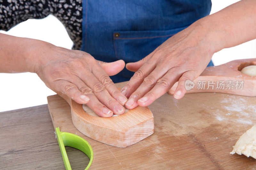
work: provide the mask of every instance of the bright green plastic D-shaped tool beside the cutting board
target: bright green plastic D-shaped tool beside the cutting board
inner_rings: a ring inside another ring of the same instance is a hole
[[[59,127],[55,128],[55,130],[56,130],[55,133],[57,135],[57,140],[60,146],[60,152],[61,152],[66,170],[71,170],[71,166],[68,160],[68,155],[67,155],[65,146],[76,148],[84,152],[90,158],[90,162],[85,168],[85,170],[87,170],[91,166],[92,160],[93,160],[93,152],[92,152],[91,145],[86,140],[84,140],[84,138],[80,136],[77,136],[73,133],[61,132]]]

